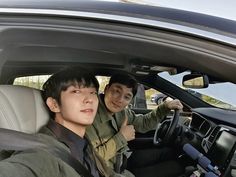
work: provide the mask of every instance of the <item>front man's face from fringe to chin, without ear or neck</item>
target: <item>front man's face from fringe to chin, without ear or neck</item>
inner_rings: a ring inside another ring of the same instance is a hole
[[[60,114],[69,124],[87,126],[93,123],[98,107],[97,91],[93,87],[70,86],[61,92]]]

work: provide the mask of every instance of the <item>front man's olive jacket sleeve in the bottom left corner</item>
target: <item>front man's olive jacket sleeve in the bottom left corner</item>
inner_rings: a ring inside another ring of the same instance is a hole
[[[0,161],[0,177],[60,177],[67,173],[62,170],[66,164],[62,164],[63,162],[58,163],[58,159],[46,151],[18,152]],[[74,174],[79,177],[76,172]]]

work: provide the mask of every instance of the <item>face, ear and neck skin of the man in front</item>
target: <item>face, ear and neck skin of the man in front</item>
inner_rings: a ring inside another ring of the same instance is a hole
[[[52,97],[48,98],[47,104],[55,112],[56,122],[83,136],[81,130],[83,132],[93,123],[97,112],[97,90],[94,87],[69,86],[61,92],[60,105]]]

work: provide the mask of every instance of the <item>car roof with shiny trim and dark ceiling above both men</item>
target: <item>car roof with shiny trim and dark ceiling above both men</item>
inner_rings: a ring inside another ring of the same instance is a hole
[[[75,64],[101,74],[191,69],[236,82],[236,23],[227,19],[116,2],[12,0],[0,1],[0,24],[2,83]]]

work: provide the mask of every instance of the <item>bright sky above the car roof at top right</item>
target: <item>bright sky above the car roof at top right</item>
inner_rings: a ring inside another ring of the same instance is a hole
[[[119,0],[106,0],[119,1]],[[130,0],[132,1],[132,0]],[[140,3],[200,12],[236,21],[236,0],[134,0]]]

